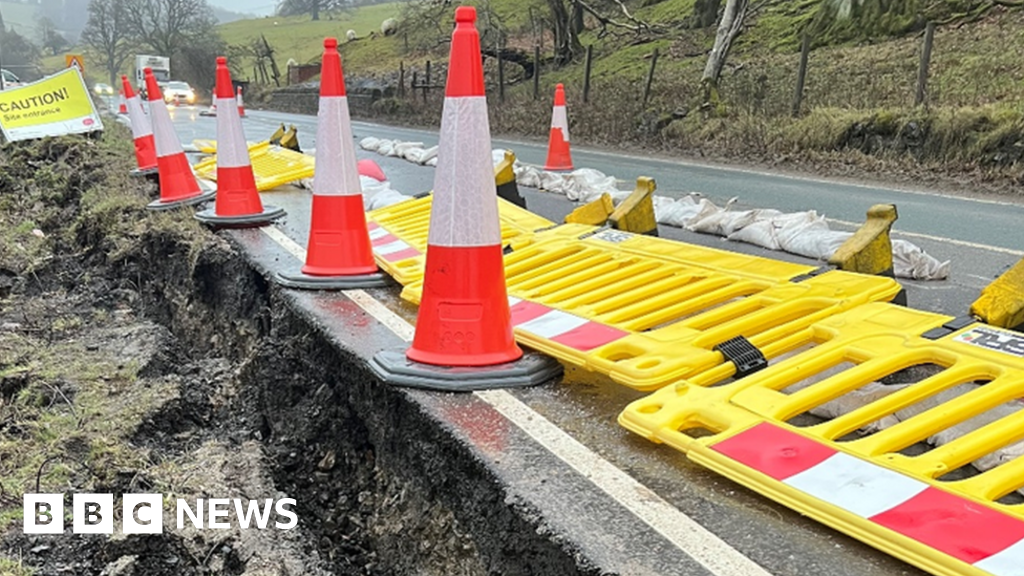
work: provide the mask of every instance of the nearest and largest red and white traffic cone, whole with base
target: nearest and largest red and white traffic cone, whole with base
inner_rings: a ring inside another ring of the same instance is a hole
[[[460,6],[455,19],[416,335],[404,354],[382,352],[371,366],[419,387],[537,384],[561,365],[523,356],[512,336],[476,9]]]

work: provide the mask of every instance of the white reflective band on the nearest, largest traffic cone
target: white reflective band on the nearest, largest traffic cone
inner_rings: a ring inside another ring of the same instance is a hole
[[[456,194],[457,187],[461,194]],[[444,98],[427,243],[432,246],[502,243],[484,96]]]

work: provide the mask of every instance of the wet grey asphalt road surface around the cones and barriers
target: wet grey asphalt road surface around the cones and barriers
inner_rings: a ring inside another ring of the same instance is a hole
[[[215,121],[198,115],[200,109],[174,111],[174,121],[184,142],[193,138],[215,137]],[[309,116],[250,111],[245,120],[245,130],[250,140],[265,138],[281,122],[299,127],[300,141],[304,148],[315,146],[315,119]],[[428,131],[393,128],[367,123],[355,123],[356,138],[368,135],[423,141],[431,145],[436,134]],[[544,148],[530,143],[495,141],[495,147],[514,150],[525,162],[543,161]],[[429,190],[432,187],[432,168],[413,165],[398,159],[383,158],[376,154],[357,151],[359,158],[373,158],[389,175],[394,189],[407,194]],[[611,157],[604,153],[574,150],[579,167],[595,167],[623,180],[637,175],[653,175],[659,184],[659,194],[681,194],[686,191],[705,193],[721,203],[738,196],[743,205],[771,207],[782,210],[815,209],[842,220],[859,221],[867,207],[877,202],[895,202],[900,209],[897,229],[911,233],[909,239],[940,259],[952,260],[953,276],[945,282],[904,282],[910,302],[915,307],[963,314],[977,295],[977,291],[992,277],[1020,258],[1017,250],[1024,248],[1018,222],[1024,216],[1024,206],[996,204],[918,192],[884,190],[851,186],[842,182],[824,182],[760,174],[756,172],[720,169],[649,158]],[[523,191],[531,210],[558,220],[572,205],[563,197]],[[308,193],[288,189],[266,193],[264,201],[285,207],[289,215],[279,224],[290,238],[305,243],[308,234]],[[842,228],[840,225],[839,228]],[[772,252],[762,248],[723,241],[717,237],[698,235],[660,228],[665,237],[695,244],[715,246],[744,253],[775,257],[797,262],[805,258]],[[253,235],[255,233],[245,233]],[[922,237],[920,235],[926,235]],[[253,252],[252,257],[262,259],[270,268],[294,268],[293,257],[268,246],[268,242],[254,243],[263,254]],[[415,311],[397,297],[397,290],[376,289],[372,294],[388,307],[412,320]],[[305,296],[303,296],[305,297]],[[372,335],[359,342],[367,354],[380,345],[395,345],[393,337]],[[835,575],[835,576],[890,576],[921,574],[915,569],[885,554],[800,517],[788,509],[749,492],[682,457],[666,447],[650,444],[617,426],[615,417],[640,393],[616,385],[591,373],[569,371],[566,380],[557,386],[541,386],[515,390],[514,396],[542,414],[590,450],[625,470],[660,497],[685,511],[720,538],[748,556],[769,573],[775,575]],[[464,398],[438,396],[444,398]],[[430,400],[433,402],[434,400]],[[444,401],[461,403],[463,401]],[[470,402],[470,401],[465,401]],[[509,449],[509,454],[498,454],[498,460],[518,461],[521,451]],[[635,519],[604,502],[601,495],[593,494],[586,482],[573,479],[570,471],[561,469],[544,457],[528,460],[528,477],[544,478],[562,486],[565,491],[538,490],[532,497],[547,503],[549,510],[577,510],[581,526],[574,534],[603,534],[595,537],[594,553],[616,557],[616,566],[630,566],[622,558],[636,554],[636,570],[632,573],[707,574],[703,569],[680,556],[678,549],[667,546],[658,536],[649,534]],[[545,466],[551,466],[550,468]],[[527,483],[528,484],[528,483]],[[571,506],[569,504],[572,504]],[[575,506],[575,507],[573,507]],[[606,515],[602,510],[607,509]],[[567,512],[563,512],[567,513]],[[602,516],[604,515],[604,516]],[[594,519],[597,519],[595,522]],[[606,518],[608,525],[602,526]],[[571,523],[572,518],[555,518],[554,524]],[[635,541],[615,540],[610,545],[602,531],[626,531]],[[603,543],[602,543],[603,542]],[[603,546],[603,547],[602,547]],[[586,547],[586,546],[584,546]],[[642,560],[640,560],[642,559]],[[624,564],[625,563],[625,564]],[[642,569],[641,569],[642,565]],[[631,573],[631,572],[624,572]]]

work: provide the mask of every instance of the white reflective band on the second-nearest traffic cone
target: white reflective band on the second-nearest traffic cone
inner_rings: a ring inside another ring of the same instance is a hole
[[[355,167],[352,125],[348,98],[321,96],[316,114],[316,170],[313,194],[317,196],[358,196],[362,194]]]

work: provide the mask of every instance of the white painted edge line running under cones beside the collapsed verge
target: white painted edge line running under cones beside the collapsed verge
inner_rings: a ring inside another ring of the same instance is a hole
[[[300,261],[306,251],[274,227],[263,227],[270,240]],[[415,328],[382,302],[362,290],[343,290],[353,302],[393,331],[411,341]],[[654,491],[615,467],[600,455],[555,425],[506,390],[473,393],[514,422],[527,436],[580,472],[602,492],[630,510],[654,531],[716,576],[770,576],[764,568],[746,558]]]

